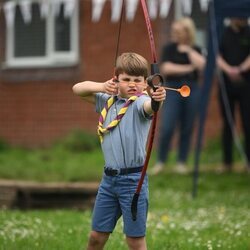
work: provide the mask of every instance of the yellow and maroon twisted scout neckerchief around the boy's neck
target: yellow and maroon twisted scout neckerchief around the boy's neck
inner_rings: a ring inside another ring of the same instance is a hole
[[[103,123],[107,117],[107,113],[110,109],[110,107],[115,103],[117,100],[117,97],[112,96],[108,99],[106,105],[104,106],[101,115],[99,117],[99,123],[97,128],[97,133],[99,135],[100,141],[103,142],[103,136],[104,134],[110,132],[113,130],[121,121],[122,117],[125,115],[126,111],[128,110],[128,106],[133,103],[140,95],[131,96],[123,105],[123,107],[120,109],[119,113],[115,117],[113,121],[111,121],[106,128],[103,127]]]

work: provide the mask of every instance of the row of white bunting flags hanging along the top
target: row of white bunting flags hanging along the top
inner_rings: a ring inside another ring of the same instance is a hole
[[[40,14],[42,18],[48,17],[50,9],[53,9],[53,14],[58,15],[60,6],[64,5],[64,17],[70,17],[76,7],[77,2],[91,2],[92,22],[98,22],[101,19],[105,4],[109,4],[111,9],[111,22],[118,22],[121,15],[122,0],[5,0],[0,3],[0,11],[5,14],[8,26],[12,26],[15,19],[15,9],[20,7],[23,20],[26,24],[32,21],[32,3],[40,5]],[[126,9],[126,21],[133,21],[138,8],[139,0],[124,0]],[[211,0],[199,0],[200,9],[203,12],[207,11],[208,3]],[[174,1],[172,0],[147,0],[149,16],[151,19],[167,18],[169,10]],[[182,11],[186,15],[192,13],[193,0],[181,0]]]

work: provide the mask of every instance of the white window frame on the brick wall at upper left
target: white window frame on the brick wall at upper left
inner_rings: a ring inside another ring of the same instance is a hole
[[[51,4],[53,0],[49,3]],[[32,0],[33,3],[39,3]],[[46,51],[45,56],[41,57],[15,57],[14,56],[14,25],[6,26],[6,61],[4,66],[7,68],[41,68],[41,67],[64,67],[73,66],[79,62],[79,3],[76,0],[74,13],[70,17],[70,51],[56,51],[55,46],[55,22],[53,13],[54,5],[50,5],[48,17],[46,17]]]

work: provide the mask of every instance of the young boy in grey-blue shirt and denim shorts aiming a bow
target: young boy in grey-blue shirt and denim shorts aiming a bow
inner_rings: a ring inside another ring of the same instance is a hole
[[[88,250],[104,248],[121,215],[129,249],[147,249],[147,177],[141,189],[136,221],[132,220],[130,208],[145,161],[153,114],[151,98],[161,103],[166,97],[163,87],[152,92],[151,98],[145,94],[147,77],[147,60],[136,53],[123,53],[117,58],[115,78],[73,86],[76,95],[94,103],[96,111],[101,113],[98,134],[105,167],[95,201]]]

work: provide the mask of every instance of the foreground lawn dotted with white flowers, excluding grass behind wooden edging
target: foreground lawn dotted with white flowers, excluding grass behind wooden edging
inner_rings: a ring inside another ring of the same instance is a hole
[[[189,175],[150,178],[148,249],[250,248],[249,176],[202,173],[196,199]],[[0,249],[84,249],[91,211],[0,212]],[[127,249],[122,222],[106,249]]]

